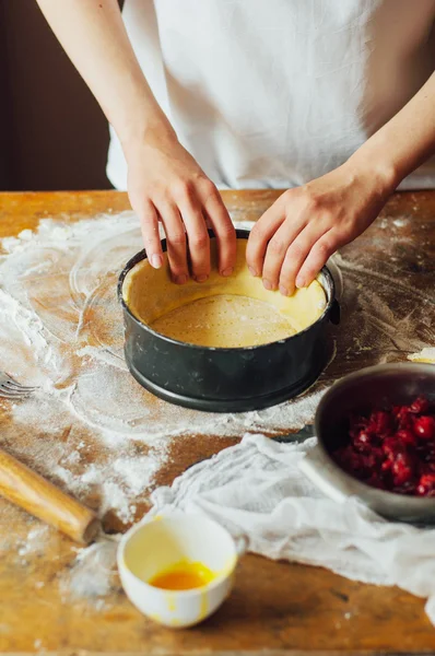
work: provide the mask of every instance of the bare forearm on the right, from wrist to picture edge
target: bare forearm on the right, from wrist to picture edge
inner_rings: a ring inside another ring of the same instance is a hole
[[[399,183],[435,152],[435,73],[409,103],[350,159],[368,167],[390,186]]]

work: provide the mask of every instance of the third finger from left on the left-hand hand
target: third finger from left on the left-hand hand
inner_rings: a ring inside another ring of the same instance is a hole
[[[197,282],[204,282],[210,276],[210,237],[205,219],[193,197],[178,203],[178,208],[186,227],[192,277]]]

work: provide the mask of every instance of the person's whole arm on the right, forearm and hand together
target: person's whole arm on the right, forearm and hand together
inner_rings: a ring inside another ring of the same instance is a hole
[[[343,165],[289,189],[251,231],[247,261],[266,289],[292,294],[361,235],[398,184],[435,152],[435,74]]]

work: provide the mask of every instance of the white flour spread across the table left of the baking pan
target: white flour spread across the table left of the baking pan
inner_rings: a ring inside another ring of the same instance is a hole
[[[251,224],[239,224],[250,227]],[[40,221],[1,242],[0,370],[37,385],[1,440],[32,468],[124,523],[152,485],[171,441],[186,434],[277,433],[313,417],[322,389],[278,409],[204,414],[156,399],[124,360],[117,279],[141,247],[131,212]],[[325,386],[324,386],[325,388]]]

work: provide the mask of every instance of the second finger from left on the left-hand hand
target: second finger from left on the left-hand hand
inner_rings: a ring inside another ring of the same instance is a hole
[[[160,206],[162,222],[165,229],[167,243],[167,259],[173,281],[184,284],[189,279],[189,267],[187,263],[187,239],[185,226],[178,208],[174,204]]]

